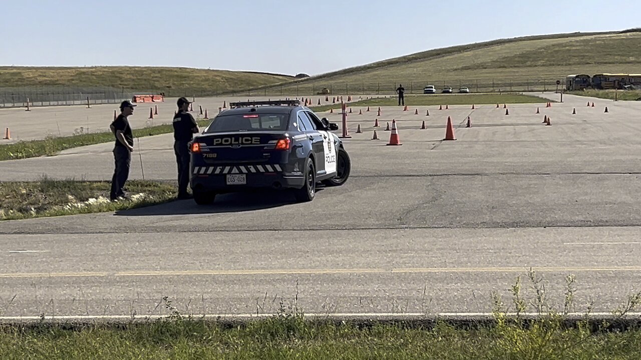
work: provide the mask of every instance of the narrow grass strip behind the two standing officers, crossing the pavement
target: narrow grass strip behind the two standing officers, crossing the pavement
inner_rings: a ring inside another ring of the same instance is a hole
[[[211,120],[198,120],[198,126],[207,126]],[[173,133],[171,124],[143,127],[133,129],[134,138]],[[58,152],[97,143],[114,142],[115,136],[110,132],[88,133],[71,136],[47,136],[42,140],[28,140],[17,143],[0,145],[0,161],[37,158],[38,156],[51,156]]]

